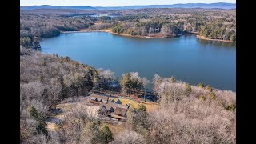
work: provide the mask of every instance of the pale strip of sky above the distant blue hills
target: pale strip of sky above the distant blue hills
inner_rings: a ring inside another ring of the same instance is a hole
[[[175,3],[235,3],[235,0],[20,0],[20,6],[135,6],[171,5]]]

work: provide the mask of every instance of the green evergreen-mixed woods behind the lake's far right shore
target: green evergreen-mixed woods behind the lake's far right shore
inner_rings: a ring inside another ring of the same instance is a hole
[[[214,14],[215,15],[215,14]],[[233,18],[216,18],[206,14],[157,15],[155,17],[126,17],[112,28],[114,33],[142,35],[163,34],[166,37],[198,33],[204,38],[236,42],[236,23]],[[115,18],[118,19],[118,18]],[[113,22],[114,20],[112,20]]]

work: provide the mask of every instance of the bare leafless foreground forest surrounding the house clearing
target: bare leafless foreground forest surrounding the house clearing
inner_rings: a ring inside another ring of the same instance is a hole
[[[57,122],[58,131],[48,131],[46,118],[57,104],[86,101],[94,86],[116,80],[114,72],[23,46],[20,61],[21,143],[236,143],[236,93],[158,74],[150,81],[159,110],[131,107],[118,134],[81,106],[72,106],[64,122]],[[134,93],[150,81],[130,72],[118,83],[125,93]]]

